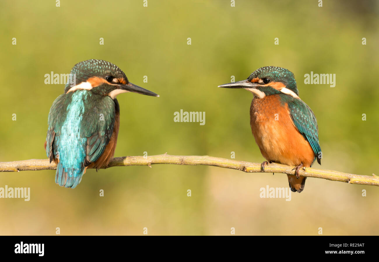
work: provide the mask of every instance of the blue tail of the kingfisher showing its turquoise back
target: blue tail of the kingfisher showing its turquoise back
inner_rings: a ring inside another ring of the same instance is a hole
[[[55,173],[55,183],[61,187],[75,188],[81,181],[81,177],[85,173],[82,168],[64,168],[62,162],[58,163]]]

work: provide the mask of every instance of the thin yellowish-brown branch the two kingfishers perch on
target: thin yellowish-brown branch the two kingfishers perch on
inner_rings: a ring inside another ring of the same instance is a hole
[[[174,165],[207,165],[222,168],[237,169],[248,173],[262,172],[260,163],[250,163],[230,160],[226,158],[210,157],[207,155],[150,155],[115,157],[108,167],[113,166],[150,166],[153,164],[174,164]],[[25,170],[56,169],[55,163],[49,163],[49,159],[30,159],[13,162],[0,162],[0,172],[18,172]],[[294,174],[293,166],[280,165],[276,163],[268,164],[265,173]],[[376,185],[379,186],[379,177],[362,176],[356,174],[343,173],[333,170],[317,168],[300,169],[300,176],[317,177],[333,181],[341,181],[349,184]]]

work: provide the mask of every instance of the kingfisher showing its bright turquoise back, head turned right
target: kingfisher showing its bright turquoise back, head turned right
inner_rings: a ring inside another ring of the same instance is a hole
[[[75,188],[87,168],[108,166],[116,149],[120,106],[116,96],[133,92],[156,96],[130,83],[107,61],[90,59],[72,68],[64,93],[50,108],[45,142],[47,157],[57,164],[55,183]]]

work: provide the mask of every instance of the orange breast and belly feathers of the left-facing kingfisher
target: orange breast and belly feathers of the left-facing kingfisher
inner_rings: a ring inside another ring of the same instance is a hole
[[[288,105],[279,95],[254,98],[250,108],[250,125],[255,142],[267,161],[283,165],[312,165],[315,154],[296,129]]]

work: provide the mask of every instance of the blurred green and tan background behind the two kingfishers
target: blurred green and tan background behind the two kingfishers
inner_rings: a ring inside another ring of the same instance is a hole
[[[280,66],[295,74],[300,97],[318,119],[321,168],[379,174],[377,1],[55,4],[0,3],[0,161],[46,158],[47,116],[64,85],[45,85],[44,75],[66,74],[96,58],[160,94],[118,96],[115,156],[147,151],[230,158],[234,151],[236,160],[262,162],[249,126],[252,94],[217,86],[232,75],[243,80],[259,67]],[[304,85],[310,71],[336,74],[336,86]],[[180,109],[205,111],[205,126],[174,122]],[[259,197],[266,185],[287,187],[285,174],[115,167],[88,170],[74,190],[56,185],[54,176],[52,170],[0,174],[0,187],[31,190],[29,202],[0,199],[0,234],[55,235],[56,227],[61,235],[142,235],[144,227],[149,235],[230,235],[231,227],[237,235],[318,235],[319,227],[323,235],[379,234],[379,188],[373,186],[309,178],[301,194],[285,201]]]

